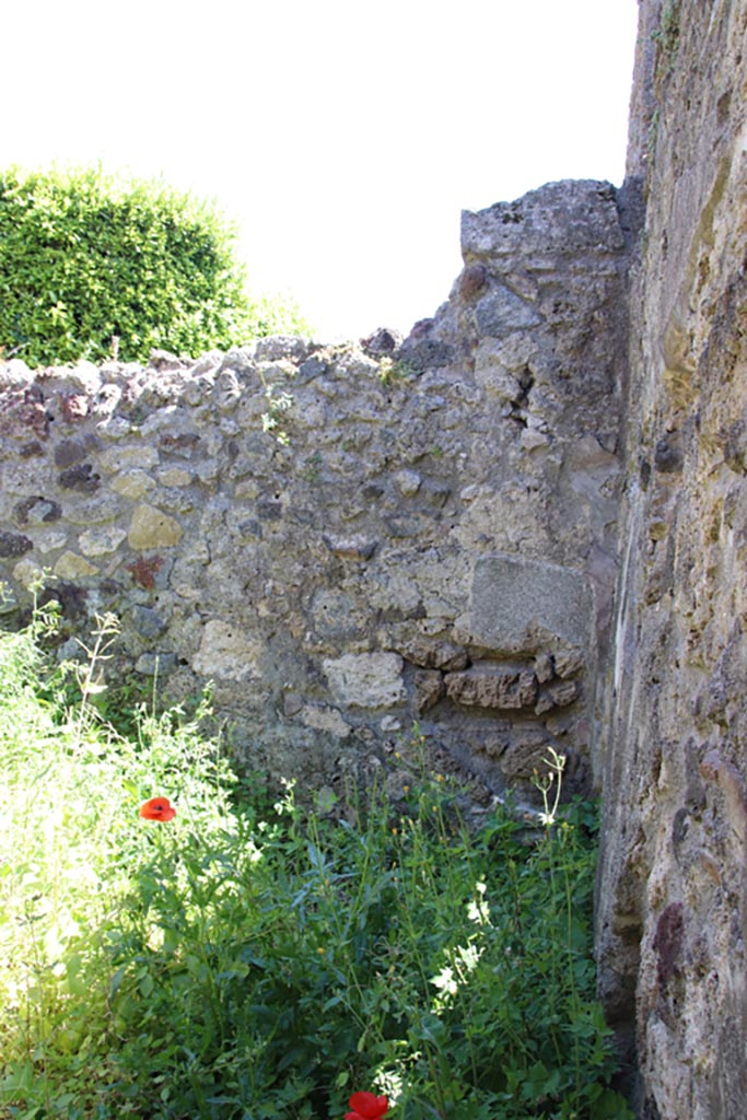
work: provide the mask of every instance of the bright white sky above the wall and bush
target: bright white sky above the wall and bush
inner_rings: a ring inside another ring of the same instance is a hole
[[[214,198],[320,337],[407,333],[460,211],[624,174],[637,0],[4,0],[0,168]]]

